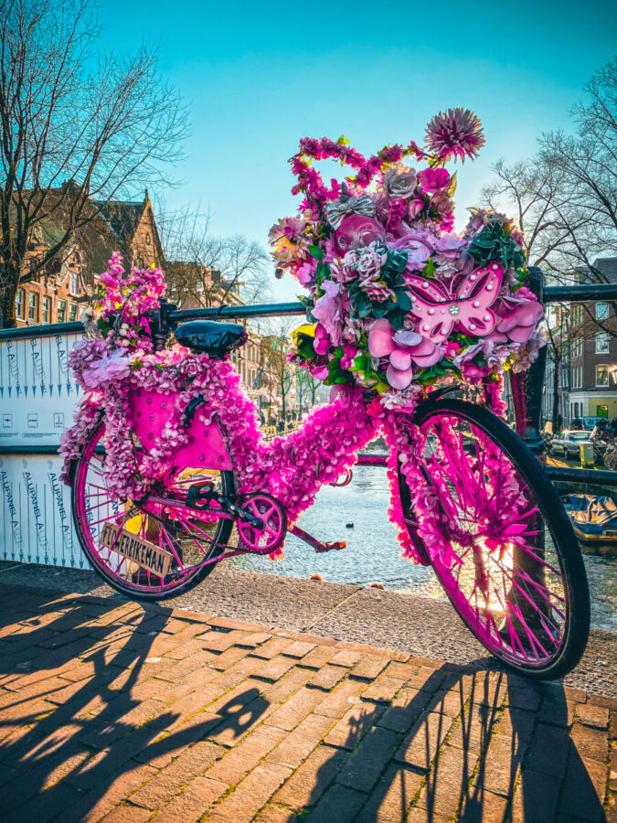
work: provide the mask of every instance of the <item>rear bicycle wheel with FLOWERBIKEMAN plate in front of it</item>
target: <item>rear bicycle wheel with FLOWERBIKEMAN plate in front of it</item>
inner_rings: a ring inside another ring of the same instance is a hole
[[[72,486],[75,530],[90,565],[117,592],[134,600],[165,600],[192,589],[214,569],[207,561],[224,550],[233,522],[187,508],[188,488],[207,484],[227,497],[234,491],[233,473],[176,468],[161,484],[165,505],[154,503],[153,496],[134,503],[111,496],[103,476],[104,452],[101,424],[78,460]],[[107,524],[118,529],[115,542],[105,540]],[[141,556],[133,548],[121,551],[122,533],[151,547],[147,562],[147,549]],[[165,561],[164,571],[156,571],[154,555]]]

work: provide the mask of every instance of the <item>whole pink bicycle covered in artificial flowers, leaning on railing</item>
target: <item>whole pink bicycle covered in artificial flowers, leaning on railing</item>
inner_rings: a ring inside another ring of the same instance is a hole
[[[244,327],[175,327],[182,313],[161,302],[162,273],[124,273],[114,256],[101,275],[102,337],[70,361],[87,392],[61,449],[81,548],[141,600],[186,592],[239,553],[275,558],[288,530],[314,550],[341,549],[296,520],[380,434],[404,555],[431,565],[506,667],[563,676],[590,628],[580,546],[542,466],[500,416],[501,370],[527,368],[542,345],[522,240],[499,215],[474,213],[463,235],[444,229],[445,169],[434,157],[427,174],[399,164],[426,156],[416,144],[367,161],[343,142],[301,149],[301,215],[271,239],[311,293],[293,357],[338,393],[266,443],[229,358]],[[342,158],[357,174],[328,189],[306,155]]]

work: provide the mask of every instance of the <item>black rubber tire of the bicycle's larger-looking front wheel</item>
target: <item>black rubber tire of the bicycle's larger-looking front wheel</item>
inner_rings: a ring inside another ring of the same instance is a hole
[[[460,583],[457,582],[456,585],[453,585],[452,569],[446,570],[445,566],[447,565],[447,563],[446,561],[444,561],[443,557],[441,557],[441,552],[431,550],[429,547],[425,545],[425,551],[429,561],[431,561],[433,571],[436,573],[436,576],[440,580],[440,583],[443,586],[445,593],[447,594],[454,609],[457,611],[458,615],[463,620],[463,623],[467,625],[467,627],[473,632],[473,635],[476,637],[476,639],[478,639],[479,642],[492,655],[494,655],[501,661],[505,668],[509,668],[512,671],[516,671],[516,673],[518,674],[524,674],[527,677],[534,679],[556,679],[559,677],[563,677],[580,661],[580,657],[582,656],[587,643],[590,631],[590,594],[587,583],[587,575],[585,572],[585,566],[580,551],[579,541],[577,540],[576,535],[574,534],[574,530],[572,529],[569,517],[565,509],[563,508],[558,493],[554,486],[551,484],[551,482],[548,480],[548,477],[545,475],[542,466],[537,461],[537,458],[527,448],[527,445],[524,444],[523,441],[516,435],[516,433],[509,429],[503,421],[501,421],[499,418],[495,416],[495,414],[493,414],[483,406],[477,406],[473,403],[460,401],[452,398],[442,398],[437,401],[426,401],[424,403],[421,403],[418,409],[416,410],[413,422],[420,428],[420,433],[423,433],[424,436],[428,437],[431,422],[439,421],[440,419],[458,420],[470,427],[470,432],[472,433],[472,435],[474,431],[484,433],[486,438],[489,438],[492,443],[490,448],[492,449],[493,446],[495,446],[495,448],[498,449],[501,454],[505,454],[505,458],[507,458],[509,464],[513,466],[514,471],[516,471],[516,480],[518,480],[518,478],[521,478],[525,482],[527,490],[530,493],[530,497],[527,497],[526,499],[527,501],[533,499],[534,504],[537,508],[537,514],[533,515],[533,517],[536,518],[535,522],[537,522],[538,516],[541,516],[544,523],[546,524],[545,528],[548,529],[548,532],[540,532],[538,529],[537,532],[528,533],[541,533],[543,535],[541,540],[546,540],[548,538],[548,540],[544,543],[544,547],[542,549],[542,558],[544,558],[544,561],[546,561],[547,555],[544,552],[548,545],[549,550],[554,549],[554,554],[557,556],[558,559],[558,567],[555,567],[555,571],[558,572],[560,570],[562,572],[563,601],[565,604],[565,611],[562,625],[562,634],[559,638],[558,646],[555,648],[554,652],[550,654],[547,653],[547,658],[544,660],[521,659],[521,657],[525,657],[524,649],[523,647],[521,647],[521,650],[517,652],[516,638],[513,639],[511,634],[510,646],[514,649],[514,651],[512,650],[512,648],[509,648],[506,645],[500,646],[500,643],[505,643],[504,632],[497,631],[496,625],[495,630],[490,625],[491,609],[494,609],[495,605],[489,608],[489,602],[486,601],[486,625],[481,631],[479,625],[480,617],[477,605],[477,593],[475,595],[475,607],[470,605],[471,601],[468,602],[465,606],[465,604],[463,604],[463,597],[460,594]],[[488,440],[485,441],[485,443],[488,443]],[[463,435],[461,435],[461,447],[463,449]],[[480,458],[477,448],[475,448],[475,453],[478,456],[473,456],[470,461],[466,461],[470,465],[473,465],[474,460],[476,460],[477,464],[479,464]],[[431,456],[431,459],[433,459],[435,462],[437,461],[437,458],[434,455]],[[461,459],[466,460],[466,458],[464,458],[464,454]],[[501,456],[499,459],[501,461]],[[501,462],[499,466],[501,471]],[[433,486],[434,489],[435,483],[431,479],[431,474],[428,468],[422,470],[422,475],[424,476],[425,483],[429,486]],[[477,475],[479,476],[480,472],[478,472]],[[461,486],[463,485],[464,483],[461,482]],[[478,487],[480,487],[479,483]],[[406,479],[400,471],[399,488],[403,508],[407,508],[407,510],[410,513],[410,518],[413,519],[415,518],[415,513],[413,512],[411,502],[413,497],[407,485]],[[443,481],[441,481],[440,489],[442,493]],[[524,494],[525,492],[521,493],[520,499],[523,499]],[[451,496],[454,497],[453,494]],[[461,500],[464,503],[463,497],[461,497]],[[498,507],[498,502],[499,498],[497,496],[497,500],[495,501],[495,507]],[[439,506],[441,507],[442,514],[445,517],[447,517],[448,515],[445,511],[444,505],[445,504],[441,497],[441,502],[439,503]],[[475,511],[479,511],[481,508],[482,506],[480,502],[478,502],[476,504]],[[526,517],[528,518],[530,517],[530,515],[526,515]],[[472,529],[473,527],[469,528]],[[527,529],[527,526],[525,528]],[[454,553],[456,553],[456,549],[454,547],[458,544],[452,541],[451,531],[449,531],[448,529],[452,530],[452,521],[448,521],[446,523],[444,520],[443,535],[445,535],[445,537],[447,538],[450,545],[450,549]],[[416,529],[410,528],[409,530],[410,536],[414,539],[417,539],[418,535],[416,533]],[[527,532],[524,533],[527,534]],[[524,544],[526,540],[527,538],[523,538]],[[537,538],[537,540],[539,540],[539,538]],[[480,531],[473,535],[474,555],[476,553],[477,548],[476,544],[481,544],[482,541],[483,539],[481,538]],[[504,545],[507,545],[507,543],[505,543]],[[514,558],[516,555],[517,547],[516,543],[512,545],[512,556]],[[491,560],[491,552],[489,549],[486,548],[486,546],[484,546],[484,549],[484,562],[486,562],[487,560]],[[519,554],[520,551],[521,550],[519,550]],[[461,555],[463,555],[462,550]],[[457,555],[457,557],[458,556],[459,555]],[[520,554],[520,556],[523,556],[523,554]],[[525,556],[527,557],[527,554],[525,554]],[[534,557],[534,553],[530,552],[530,556]],[[503,562],[501,558],[501,551],[499,561],[500,563]],[[456,562],[460,565],[460,557],[459,561]],[[464,562],[465,561],[463,560],[463,564]],[[476,561],[474,560],[473,562],[475,564]],[[478,567],[476,565],[476,586],[478,575],[477,568]],[[459,575],[461,573],[462,572],[458,572]],[[514,581],[516,579],[516,575],[519,573],[521,572],[517,571],[515,561],[513,560],[511,580]],[[448,577],[448,574],[450,575],[450,578]],[[549,572],[549,574],[552,575],[552,572]],[[556,575],[553,575],[553,577],[555,577],[555,579],[557,580]],[[460,578],[457,578],[457,580],[459,579]],[[518,583],[520,583],[520,580],[518,581]],[[535,585],[537,585],[537,583]],[[527,586],[527,592],[529,592],[529,583],[527,583],[527,581],[525,582],[525,586]],[[545,595],[542,593],[541,588],[542,587],[540,587],[539,589],[539,593],[542,594],[542,596],[544,597]],[[514,587],[511,591],[513,590]],[[546,588],[546,592],[549,593],[549,591],[550,590]],[[537,590],[535,588],[533,589],[532,593],[535,594],[537,597]],[[489,593],[489,599],[491,595],[492,593]],[[542,605],[547,611],[549,610],[548,604]],[[507,621],[508,613],[510,612],[510,605],[508,605],[508,603],[506,602],[505,608],[503,607],[503,604],[501,604],[499,608],[502,608],[502,610],[505,612],[504,619]],[[558,607],[559,613],[560,608],[561,607]],[[470,609],[471,612],[473,612],[474,609],[476,615],[475,619],[472,619],[473,615],[471,614]],[[538,611],[540,610],[538,609]],[[554,615],[555,612],[553,612],[551,616]],[[509,616],[512,616],[511,612]],[[555,619],[559,620],[560,618],[556,617]],[[493,623],[496,623],[495,619],[493,620]],[[486,628],[486,626],[488,626],[488,628]],[[553,631],[552,625],[548,633],[551,636],[551,639],[553,635],[557,635],[557,632]],[[487,634],[489,635],[488,637]],[[501,640],[498,639],[499,637],[501,637]],[[527,641],[527,638],[524,639]],[[553,640],[553,642],[555,643],[555,640]],[[534,654],[537,654],[537,649],[535,646],[533,646],[533,639],[529,639],[527,641],[527,645],[533,647]]]

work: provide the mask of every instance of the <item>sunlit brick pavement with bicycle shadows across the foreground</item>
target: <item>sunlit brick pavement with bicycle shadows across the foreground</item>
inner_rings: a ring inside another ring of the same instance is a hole
[[[617,701],[0,586],[0,818],[617,821]]]

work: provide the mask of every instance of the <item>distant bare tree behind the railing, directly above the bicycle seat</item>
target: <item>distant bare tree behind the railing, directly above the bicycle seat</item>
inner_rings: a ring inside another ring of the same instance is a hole
[[[159,210],[169,294],[178,303],[219,305],[238,294],[244,303],[269,296],[270,257],[241,234],[228,238],[210,232],[210,214],[186,206]]]

